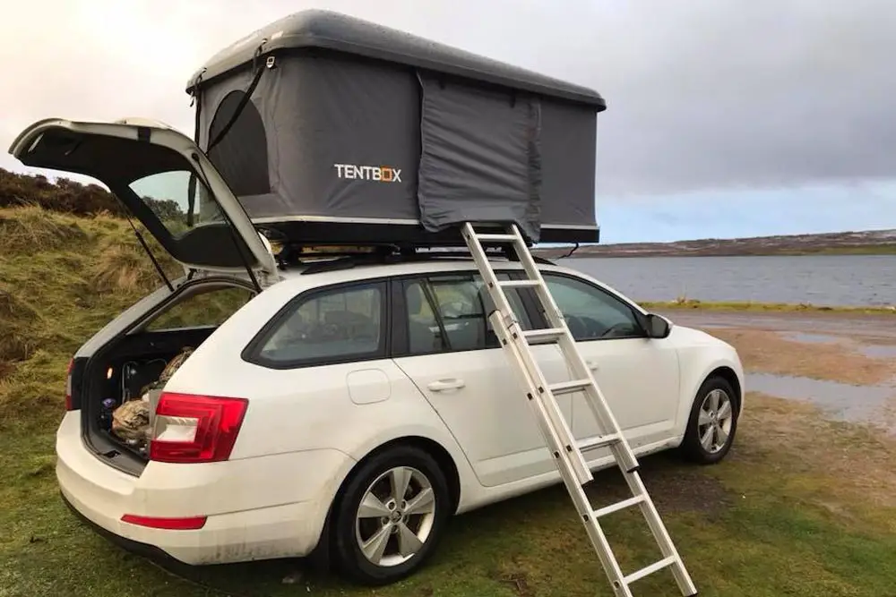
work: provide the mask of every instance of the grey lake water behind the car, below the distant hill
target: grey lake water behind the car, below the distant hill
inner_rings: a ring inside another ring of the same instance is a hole
[[[896,304],[896,255],[572,258],[635,301]]]

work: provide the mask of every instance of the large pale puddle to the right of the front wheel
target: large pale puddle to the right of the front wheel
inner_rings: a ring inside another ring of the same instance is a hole
[[[896,398],[893,386],[850,386],[771,373],[748,373],[746,384],[749,391],[811,402],[831,417],[848,422],[880,423],[886,406]]]

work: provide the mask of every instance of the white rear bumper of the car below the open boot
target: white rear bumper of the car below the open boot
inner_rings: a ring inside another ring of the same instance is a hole
[[[66,504],[128,550],[190,565],[308,555],[351,463],[337,450],[314,450],[209,465],[151,462],[134,477],[90,453],[80,431],[73,412],[56,435]],[[174,531],[122,522],[125,514],[207,519],[201,529]]]

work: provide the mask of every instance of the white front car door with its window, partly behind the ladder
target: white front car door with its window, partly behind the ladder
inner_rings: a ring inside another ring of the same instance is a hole
[[[545,272],[579,351],[633,447],[667,439],[678,408],[678,355],[668,338],[647,336],[634,307],[606,287],[572,274]],[[599,435],[582,392],[573,394],[576,439]],[[589,461],[607,456],[595,450]]]

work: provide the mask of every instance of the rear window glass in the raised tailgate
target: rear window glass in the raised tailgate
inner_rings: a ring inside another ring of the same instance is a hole
[[[179,238],[193,226],[224,219],[217,201],[211,199],[208,187],[191,170],[168,170],[143,176],[128,187],[146,202],[174,238]],[[191,196],[195,198],[192,211]]]

